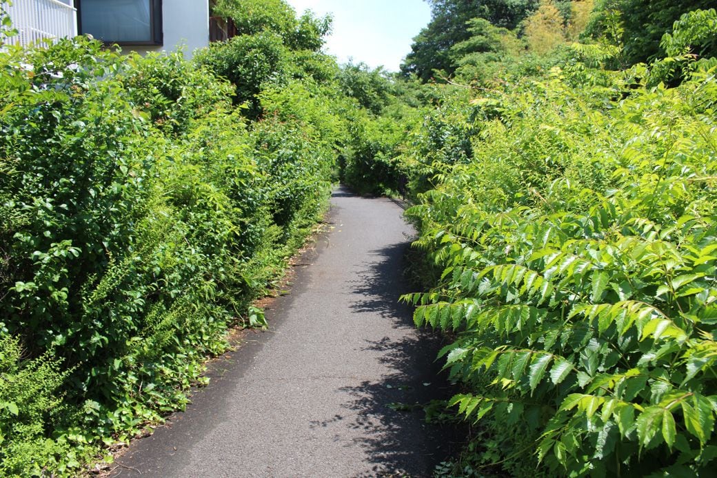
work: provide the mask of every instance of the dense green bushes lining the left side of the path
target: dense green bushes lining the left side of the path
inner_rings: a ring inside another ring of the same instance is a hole
[[[203,58],[0,53],[0,474],[73,473],[184,406],[320,217],[343,127],[326,91],[231,85]]]

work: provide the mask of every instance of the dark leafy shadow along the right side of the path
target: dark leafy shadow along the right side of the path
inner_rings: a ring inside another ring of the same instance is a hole
[[[369,253],[374,261],[364,263],[366,268],[355,281],[356,299],[351,301],[354,311],[379,314],[394,329],[414,327],[412,307],[399,302],[399,296],[409,291],[403,277],[408,240]],[[356,317],[360,320],[361,314]],[[390,372],[377,382],[341,388],[352,398],[344,407],[358,415],[350,426],[364,431],[356,444],[372,464],[371,473],[360,477],[429,477],[454,451],[452,427],[424,421],[425,405],[452,395],[445,376],[440,375],[440,362],[435,361],[440,347],[440,337],[424,331],[366,341],[362,350],[379,355],[379,362]]]

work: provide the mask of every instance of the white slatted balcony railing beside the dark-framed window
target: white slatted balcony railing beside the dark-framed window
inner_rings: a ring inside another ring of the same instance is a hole
[[[69,3],[69,5],[67,4]],[[18,34],[8,42],[27,45],[39,39],[58,39],[77,35],[77,9],[70,0],[14,0],[5,6]]]

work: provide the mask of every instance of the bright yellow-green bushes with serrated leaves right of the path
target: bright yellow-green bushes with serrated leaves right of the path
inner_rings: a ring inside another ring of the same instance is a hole
[[[710,39],[712,18],[683,17],[663,47]],[[717,70],[599,67],[614,54],[524,57],[531,75],[448,93],[412,141],[412,184],[432,188],[409,216],[442,275],[404,299],[454,337],[451,405],[475,423],[461,476],[713,469]]]

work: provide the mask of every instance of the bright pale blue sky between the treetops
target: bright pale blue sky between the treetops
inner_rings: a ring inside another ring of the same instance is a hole
[[[398,71],[411,51],[412,38],[431,18],[424,0],[286,0],[299,14],[333,14],[326,50],[345,63],[364,62]]]

